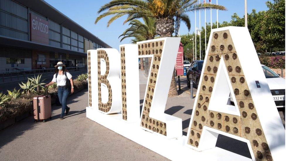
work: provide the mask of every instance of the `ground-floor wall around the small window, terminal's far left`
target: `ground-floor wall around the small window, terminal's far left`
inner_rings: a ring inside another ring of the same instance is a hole
[[[24,68],[32,69],[32,59],[25,58],[25,64],[14,64],[14,67],[11,67],[11,64],[6,64],[6,57],[0,57],[0,72],[6,72],[6,69],[9,71],[15,71],[13,68],[19,68],[23,70]],[[17,66],[18,65],[18,66]]]

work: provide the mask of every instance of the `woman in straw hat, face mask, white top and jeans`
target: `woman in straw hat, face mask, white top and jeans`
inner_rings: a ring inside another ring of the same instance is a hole
[[[74,82],[71,79],[72,76],[65,69],[65,67],[66,66],[62,62],[58,62],[55,66],[56,70],[52,82],[45,85],[46,87],[48,87],[54,83],[57,83],[59,102],[62,104],[62,113],[59,117],[60,120],[64,119],[64,111],[66,111],[67,115],[70,110],[70,108],[67,106],[67,96],[69,96],[69,91],[71,91],[71,93],[74,93]]]

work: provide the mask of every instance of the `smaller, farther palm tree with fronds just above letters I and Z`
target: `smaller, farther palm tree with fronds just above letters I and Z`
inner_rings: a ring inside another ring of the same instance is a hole
[[[120,42],[125,38],[131,39],[131,43],[135,44],[138,41],[151,40],[156,36],[156,24],[154,18],[144,17],[144,23],[139,20],[131,20],[127,28],[118,38],[122,37]],[[151,60],[149,60],[151,62]],[[144,70],[143,58],[140,58],[140,70]]]

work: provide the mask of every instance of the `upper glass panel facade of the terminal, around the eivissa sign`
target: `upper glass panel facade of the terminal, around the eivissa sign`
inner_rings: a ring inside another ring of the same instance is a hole
[[[84,52],[84,39],[93,43],[93,49],[101,48],[98,43],[80,35],[67,26],[56,23],[49,17],[28,9],[25,4],[13,0],[0,1],[0,35],[20,40],[29,40],[29,15],[31,13],[48,21],[48,45]]]

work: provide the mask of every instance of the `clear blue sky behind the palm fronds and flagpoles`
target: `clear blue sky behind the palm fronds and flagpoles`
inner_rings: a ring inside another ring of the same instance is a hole
[[[107,21],[109,17],[101,19],[97,24],[94,24],[96,17],[98,16],[98,9],[104,4],[110,2],[110,0],[45,0],[47,3],[55,7],[64,15],[78,23],[80,26],[96,35],[112,48],[118,49],[121,44],[130,44],[132,38],[127,38],[120,42],[119,35],[128,28],[128,24],[123,25],[125,17],[118,18],[108,28]],[[247,12],[250,13],[252,9],[256,11],[268,10],[265,2],[267,0],[248,0]],[[270,0],[272,1],[272,0]],[[206,0],[209,2],[209,0]],[[203,0],[201,0],[203,3]],[[212,0],[212,3],[216,3],[216,0]],[[227,11],[218,11],[218,21],[230,21],[231,15],[237,13],[240,17],[244,16],[244,0],[218,0],[218,4],[227,8]],[[205,11],[201,11],[201,26],[205,26]],[[197,27],[199,28],[199,13],[197,11]],[[185,24],[181,23],[180,35],[193,33],[195,30],[195,13],[189,12],[188,16],[191,21],[191,30]],[[216,10],[212,10],[212,22],[216,22],[217,13]],[[206,21],[210,22],[210,11],[206,11]]]

